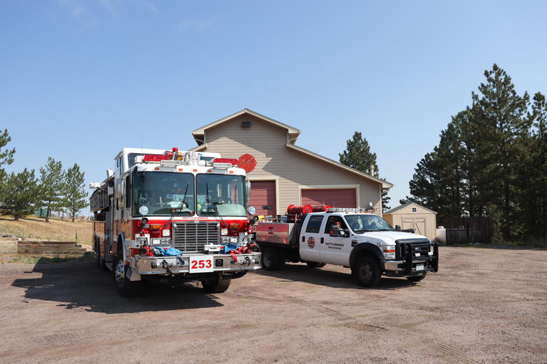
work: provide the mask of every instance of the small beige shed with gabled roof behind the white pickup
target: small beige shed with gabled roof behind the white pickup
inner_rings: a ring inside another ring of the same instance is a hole
[[[399,225],[401,229],[414,229],[416,234],[435,239],[436,212],[414,202],[402,204],[384,212],[383,218],[392,227]]]

